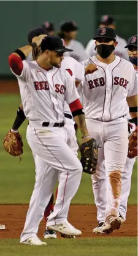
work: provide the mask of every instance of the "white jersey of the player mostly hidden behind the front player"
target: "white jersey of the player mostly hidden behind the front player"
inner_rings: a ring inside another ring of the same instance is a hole
[[[32,52],[30,52],[30,54],[28,55],[28,57],[26,58],[26,60],[28,61],[32,61],[33,57],[32,57]],[[84,75],[85,75],[85,68],[74,58],[72,57],[64,57],[63,61],[61,62],[61,68],[63,68],[64,70],[71,70],[72,72],[72,78],[77,81],[83,81]],[[64,102],[64,113],[66,114],[70,114],[71,115],[71,110],[69,108],[69,105],[67,104],[67,102]]]

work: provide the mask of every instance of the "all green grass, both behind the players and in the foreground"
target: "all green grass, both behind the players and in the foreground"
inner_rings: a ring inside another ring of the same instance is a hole
[[[23,136],[24,154],[20,163],[4,151],[2,141],[10,130],[20,104],[18,95],[0,95],[0,204],[28,204],[34,187],[34,161],[26,142],[25,122],[20,133]],[[90,175],[83,174],[79,191],[72,200],[73,204],[94,204]],[[132,174],[131,195],[129,204],[137,204],[137,167]],[[136,256],[136,237],[107,237],[96,239],[62,239],[47,241],[47,247],[20,245],[17,239],[0,241],[1,256]]]

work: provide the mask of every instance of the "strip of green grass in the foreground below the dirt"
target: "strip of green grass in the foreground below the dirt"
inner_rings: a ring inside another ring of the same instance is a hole
[[[137,238],[48,240],[47,246],[19,245],[17,239],[0,241],[1,256],[136,256]]]

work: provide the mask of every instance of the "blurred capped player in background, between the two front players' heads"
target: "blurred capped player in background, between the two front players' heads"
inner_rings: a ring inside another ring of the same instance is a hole
[[[87,59],[88,56],[82,43],[75,40],[77,30],[78,27],[74,20],[67,20],[66,22],[61,23],[58,36],[64,39],[64,43],[69,49],[73,50],[73,52],[65,52],[65,56],[71,56],[75,60],[81,62],[82,60]]]

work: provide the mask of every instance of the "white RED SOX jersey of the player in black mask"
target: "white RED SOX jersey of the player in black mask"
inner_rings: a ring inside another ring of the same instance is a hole
[[[98,70],[86,75],[82,85],[85,117],[109,122],[128,114],[127,96],[137,94],[137,76],[130,62],[115,56],[109,65],[96,56],[82,62]]]

